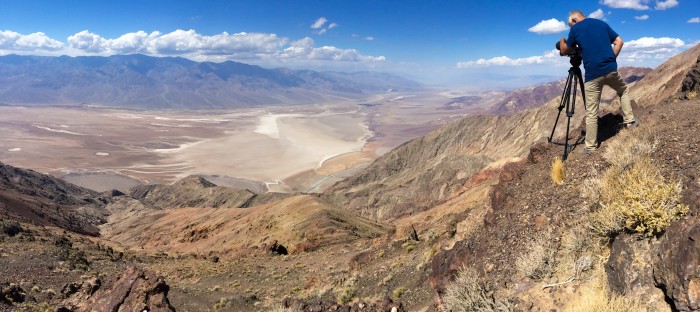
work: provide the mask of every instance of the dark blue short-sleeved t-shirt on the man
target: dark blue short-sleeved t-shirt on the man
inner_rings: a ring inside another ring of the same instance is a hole
[[[578,45],[581,49],[587,82],[617,70],[611,46],[617,37],[607,23],[594,18],[586,18],[571,27],[566,45]]]

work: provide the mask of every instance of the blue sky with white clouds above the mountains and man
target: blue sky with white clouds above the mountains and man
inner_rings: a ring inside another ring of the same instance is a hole
[[[700,43],[700,0],[0,0],[0,55],[140,53],[460,86],[565,77],[554,45],[571,10],[622,37],[620,66],[654,68]]]

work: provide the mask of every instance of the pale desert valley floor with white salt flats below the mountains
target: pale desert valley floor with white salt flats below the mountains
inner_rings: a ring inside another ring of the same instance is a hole
[[[198,175],[258,193],[318,192],[480,110],[449,105],[456,96],[389,93],[230,110],[0,106],[0,160],[96,191]]]

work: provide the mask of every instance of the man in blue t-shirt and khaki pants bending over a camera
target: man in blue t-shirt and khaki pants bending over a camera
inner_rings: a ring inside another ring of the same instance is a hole
[[[583,68],[586,71],[586,147],[581,153],[591,154],[598,148],[598,106],[603,86],[613,88],[620,96],[625,126],[631,129],[639,122],[632,113],[627,84],[617,72],[616,59],[624,44],[622,38],[607,23],[586,18],[581,11],[569,13],[569,26],[569,38],[561,38],[559,48],[561,55],[566,55],[570,46],[577,45],[583,55]]]

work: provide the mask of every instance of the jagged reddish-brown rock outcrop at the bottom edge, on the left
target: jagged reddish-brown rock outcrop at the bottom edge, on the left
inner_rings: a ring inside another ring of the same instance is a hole
[[[151,271],[130,267],[109,287],[100,286],[101,282],[93,279],[64,288],[63,293],[74,295],[63,309],[76,312],[175,311],[168,300],[170,288]]]

